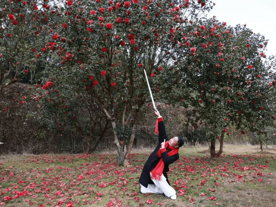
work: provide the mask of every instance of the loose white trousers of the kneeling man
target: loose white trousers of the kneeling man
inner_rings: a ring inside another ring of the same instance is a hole
[[[152,173],[150,173],[150,177]],[[156,194],[165,194],[167,197],[171,197],[176,194],[176,191],[171,187],[166,181],[166,177],[162,174],[162,181],[152,180],[154,184],[148,184],[148,187],[141,186],[142,193],[156,193]]]

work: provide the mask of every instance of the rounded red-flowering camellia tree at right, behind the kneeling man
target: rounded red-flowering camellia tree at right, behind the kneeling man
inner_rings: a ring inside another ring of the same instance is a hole
[[[171,95],[170,103],[192,107],[198,113],[190,123],[195,129],[198,123],[205,124],[212,157],[222,153],[229,124],[236,123],[238,128],[243,124],[263,133],[265,126],[275,123],[275,92],[270,90],[275,81],[269,78],[275,60],[266,58],[263,36],[213,18],[193,22],[174,41],[177,55],[157,81],[166,76],[174,85],[162,84],[159,89],[163,87]],[[217,153],[216,139],[220,139]]]

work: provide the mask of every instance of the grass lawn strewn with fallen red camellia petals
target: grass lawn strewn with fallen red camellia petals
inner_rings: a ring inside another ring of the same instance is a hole
[[[139,192],[151,151],[133,152],[126,168],[116,168],[115,152],[1,156],[0,206],[276,206],[273,148],[226,145],[219,158],[206,149],[179,150],[168,172],[174,201]]]

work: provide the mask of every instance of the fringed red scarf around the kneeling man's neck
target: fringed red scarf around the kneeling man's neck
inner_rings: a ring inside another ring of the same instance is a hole
[[[169,141],[166,141],[165,142],[165,148],[167,148],[168,145],[169,145]],[[160,149],[157,152],[158,157],[162,156],[162,153],[161,153]],[[178,150],[179,150],[179,148],[174,148],[174,147],[171,147],[170,145],[169,145],[169,149],[171,149],[171,151],[168,152],[168,156],[170,156],[170,157],[173,156],[173,155],[176,155],[178,153]],[[156,165],[156,167],[151,171],[152,180],[162,181],[162,173],[163,173],[163,170],[164,170],[164,165],[165,164],[164,164],[163,158],[161,158],[159,163]]]

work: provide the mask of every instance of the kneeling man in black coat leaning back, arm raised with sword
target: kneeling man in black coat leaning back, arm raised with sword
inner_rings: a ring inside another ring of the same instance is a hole
[[[169,164],[179,159],[178,150],[183,145],[182,137],[173,137],[169,140],[162,116],[158,116],[159,143],[148,157],[141,173],[139,183],[141,193],[164,193],[172,200],[176,199],[176,191],[171,187],[167,172]]]

